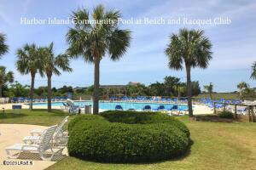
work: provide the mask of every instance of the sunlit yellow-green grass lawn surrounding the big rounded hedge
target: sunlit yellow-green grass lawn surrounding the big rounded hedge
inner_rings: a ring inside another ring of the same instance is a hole
[[[9,115],[9,116],[8,116]],[[52,125],[67,114],[61,111],[22,111],[0,114],[0,123],[28,123]],[[11,118],[11,116],[15,116]],[[256,169],[256,123],[195,122],[187,116],[177,117],[190,130],[194,144],[188,156],[178,160],[150,164],[107,164],[81,161],[67,157],[47,170],[60,169]]]

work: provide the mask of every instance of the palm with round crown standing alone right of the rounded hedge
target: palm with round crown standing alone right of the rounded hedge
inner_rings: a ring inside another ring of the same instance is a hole
[[[166,48],[166,55],[169,58],[168,66],[171,69],[182,70],[183,63],[187,72],[187,92],[189,116],[193,116],[192,110],[192,88],[191,68],[200,67],[206,69],[212,59],[212,42],[204,36],[204,31],[181,29],[178,33],[172,34],[170,43]]]

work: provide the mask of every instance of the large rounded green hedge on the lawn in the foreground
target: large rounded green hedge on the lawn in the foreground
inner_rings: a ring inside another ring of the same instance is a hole
[[[183,155],[189,130],[161,113],[106,111],[69,123],[70,156],[106,162],[160,161]]]

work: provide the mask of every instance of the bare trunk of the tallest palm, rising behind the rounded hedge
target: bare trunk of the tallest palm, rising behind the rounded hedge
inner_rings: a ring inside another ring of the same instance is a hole
[[[100,58],[94,58],[93,114],[99,113]]]

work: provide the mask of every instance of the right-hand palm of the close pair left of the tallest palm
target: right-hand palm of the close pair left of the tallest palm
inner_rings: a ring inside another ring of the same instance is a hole
[[[51,77],[53,74],[56,76],[61,75],[61,69],[62,71],[72,71],[72,68],[69,67],[69,59],[67,54],[59,54],[55,56],[53,51],[54,43],[51,42],[49,44],[49,47],[46,48],[40,48],[40,54],[44,58],[44,73],[47,76],[47,83],[48,83],[48,111],[51,111]]]

